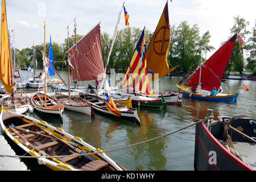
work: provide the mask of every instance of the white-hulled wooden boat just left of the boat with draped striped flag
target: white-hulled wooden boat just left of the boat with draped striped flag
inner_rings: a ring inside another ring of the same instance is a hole
[[[65,109],[91,115],[91,106],[88,101],[71,97],[71,102],[69,103],[68,96],[60,93],[56,93],[54,98],[63,104]]]

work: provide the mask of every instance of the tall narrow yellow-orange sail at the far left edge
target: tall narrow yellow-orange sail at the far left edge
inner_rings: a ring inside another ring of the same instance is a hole
[[[14,84],[11,84],[11,59],[10,59],[9,39],[7,32],[7,19],[5,0],[2,0],[2,18],[1,18],[1,63],[0,77],[6,92],[11,92]]]

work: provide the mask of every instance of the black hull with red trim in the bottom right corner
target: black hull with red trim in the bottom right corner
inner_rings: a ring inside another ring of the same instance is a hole
[[[236,155],[232,154],[232,152],[230,152],[227,148],[225,148],[221,144],[220,141],[222,141],[223,139],[223,132],[224,132],[224,124],[222,122],[214,123],[214,126],[209,126],[209,129],[203,122],[198,123],[196,125],[195,158],[194,158],[195,170],[196,171],[254,170],[252,167],[242,162],[242,160],[240,160]],[[234,137],[233,135],[234,133],[232,133],[232,140],[234,143],[236,139],[233,138]],[[243,143],[246,143],[246,142],[243,142]],[[251,146],[251,144],[248,144],[248,145]],[[253,151],[255,151],[256,149],[255,147]],[[254,154],[255,153],[253,152],[253,155]],[[242,155],[242,156],[244,157],[245,155]]]

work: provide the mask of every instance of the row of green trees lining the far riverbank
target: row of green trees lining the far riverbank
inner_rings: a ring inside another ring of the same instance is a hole
[[[246,26],[249,22],[245,19],[240,18],[240,16],[234,17],[234,25],[230,29],[230,33],[233,36],[235,33],[241,35],[245,40],[246,35],[250,32],[246,30]],[[109,57],[108,69],[115,68],[125,71],[128,67],[131,56],[133,55],[134,49],[137,46],[139,36],[141,36],[142,30],[134,27],[126,27],[117,32],[115,38],[112,53]],[[210,32],[204,32],[200,35],[200,29],[197,24],[193,26],[189,25],[187,21],[181,22],[178,26],[170,27],[171,37],[170,37],[170,48],[167,56],[168,63],[170,67],[175,67],[180,65],[175,71],[187,72],[191,68],[199,63],[200,60],[204,61],[205,53],[207,53],[206,48],[209,47],[211,50],[214,49],[210,46]],[[150,40],[154,32],[146,30],[146,47],[150,44]],[[251,50],[251,56],[247,59],[249,62],[248,68],[253,71],[255,69],[255,55],[256,55],[256,31],[255,26],[251,37],[248,39],[249,48]],[[80,40],[83,35],[77,35],[77,41]],[[238,37],[238,36],[237,36]],[[112,43],[112,38],[107,32],[101,32],[101,43],[102,43],[102,57],[104,60],[104,67],[108,57],[109,49]],[[69,39],[69,48],[74,44],[73,39]],[[53,59],[55,61],[55,67],[63,68],[68,65],[63,64],[64,60],[67,60],[68,51],[68,39],[64,40],[63,44],[52,43],[53,48]],[[43,68],[43,44],[35,46],[36,59],[38,61],[38,67]],[[46,55],[48,56],[49,43],[46,44]],[[28,67],[28,65],[33,65],[33,52],[31,48],[24,48],[21,51],[16,49],[16,59],[19,60],[20,67]],[[17,58],[18,57],[18,58]],[[230,59],[230,64],[227,69],[230,71],[234,69],[235,71],[242,72],[243,69],[243,56],[242,48],[238,43],[238,39],[234,45],[234,50],[232,57]]]

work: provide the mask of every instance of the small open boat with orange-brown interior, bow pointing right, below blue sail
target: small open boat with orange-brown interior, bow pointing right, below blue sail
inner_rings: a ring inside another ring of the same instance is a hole
[[[31,104],[34,106],[35,110],[40,113],[51,115],[59,119],[61,122],[63,121],[62,115],[64,106],[60,104],[55,98],[51,96],[45,96],[42,93],[35,93],[34,96],[31,97]]]

